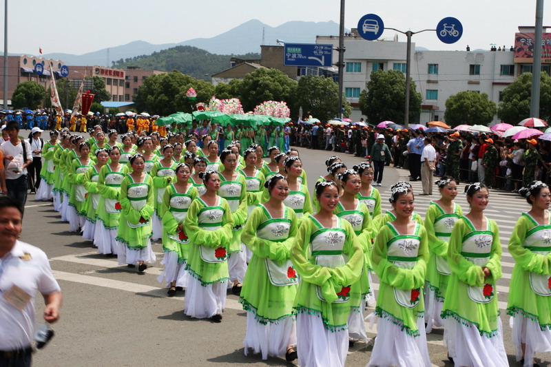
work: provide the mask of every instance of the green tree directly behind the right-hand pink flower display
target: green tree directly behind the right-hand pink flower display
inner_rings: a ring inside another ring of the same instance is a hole
[[[293,111],[297,82],[280,70],[264,67],[251,72],[241,83],[241,104],[245,111],[264,101],[284,101]]]

